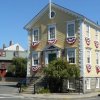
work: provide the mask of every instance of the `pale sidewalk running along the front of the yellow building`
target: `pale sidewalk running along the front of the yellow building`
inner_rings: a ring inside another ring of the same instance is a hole
[[[79,93],[73,93],[73,94],[67,94],[67,93],[62,93],[62,94],[21,94],[24,97],[31,97],[31,98],[51,98],[51,99],[75,99],[75,98],[89,98],[89,97],[95,97],[98,96],[100,92],[95,92],[95,93],[87,93],[87,94],[79,94]]]

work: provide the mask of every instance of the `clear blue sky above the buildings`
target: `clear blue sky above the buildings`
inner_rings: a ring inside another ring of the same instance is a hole
[[[9,41],[27,49],[27,31],[23,27],[49,0],[0,0],[0,48]],[[100,24],[100,0],[52,0]]]

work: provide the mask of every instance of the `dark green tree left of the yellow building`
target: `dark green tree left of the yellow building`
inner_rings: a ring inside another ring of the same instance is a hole
[[[13,58],[13,65],[15,65],[16,77],[26,77],[26,70],[27,70],[26,58]]]

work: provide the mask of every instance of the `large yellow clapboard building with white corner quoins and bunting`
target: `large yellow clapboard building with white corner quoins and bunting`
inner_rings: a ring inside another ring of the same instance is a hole
[[[100,26],[83,15],[51,4],[26,26],[28,31],[27,77],[37,66],[65,57],[80,68],[83,92],[100,90]],[[70,84],[70,83],[69,83]]]

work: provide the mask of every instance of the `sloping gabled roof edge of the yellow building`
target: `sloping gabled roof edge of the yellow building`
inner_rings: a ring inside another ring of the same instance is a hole
[[[77,13],[77,12],[74,12],[74,11],[72,11],[72,10],[70,10],[70,9],[64,8],[64,7],[62,7],[62,6],[58,5],[58,4],[55,4],[55,3],[51,3],[51,7],[55,7],[55,8],[57,8],[57,9],[60,9],[61,11],[64,11],[65,13],[72,14],[72,15],[78,17],[79,20],[84,20],[85,22],[87,22],[87,23],[89,23],[89,24],[91,24],[91,25],[93,25],[93,26],[95,26],[95,27],[97,27],[97,28],[100,29],[100,25],[98,25],[97,23],[93,22],[92,20],[88,19],[87,17],[85,17],[85,16],[83,16],[83,15]],[[25,25],[24,28],[25,28],[26,30],[30,30],[31,27],[32,27],[32,25],[33,25],[34,23],[36,23],[36,22],[39,20],[39,18],[40,18],[48,9],[49,9],[49,4],[47,4],[47,5],[46,5],[32,20],[30,20],[30,21]]]

